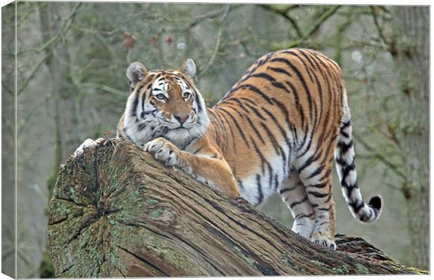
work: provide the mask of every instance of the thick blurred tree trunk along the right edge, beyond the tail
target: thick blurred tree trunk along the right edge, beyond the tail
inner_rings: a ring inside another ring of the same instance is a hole
[[[409,234],[415,267],[429,267],[429,7],[396,7],[396,52],[402,114]]]

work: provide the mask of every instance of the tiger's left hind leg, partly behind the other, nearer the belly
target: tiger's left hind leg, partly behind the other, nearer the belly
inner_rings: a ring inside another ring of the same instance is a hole
[[[315,226],[315,212],[297,172],[290,172],[281,184],[279,193],[293,214],[293,232],[309,239]]]

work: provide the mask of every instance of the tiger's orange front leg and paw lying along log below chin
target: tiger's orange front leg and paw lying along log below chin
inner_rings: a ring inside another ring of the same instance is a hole
[[[227,162],[181,151],[172,142],[162,137],[149,141],[144,150],[154,155],[155,160],[174,166],[190,174],[202,183],[216,188],[230,197],[240,197],[237,182]]]

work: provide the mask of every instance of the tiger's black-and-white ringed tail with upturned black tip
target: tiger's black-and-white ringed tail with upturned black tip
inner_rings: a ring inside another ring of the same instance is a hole
[[[344,116],[339,125],[339,135],[335,150],[335,160],[337,174],[342,186],[342,193],[345,197],[348,208],[356,220],[363,223],[377,221],[381,214],[381,197],[375,195],[366,204],[363,202],[362,195],[357,184],[357,173],[355,163],[355,153],[353,146],[353,135],[351,128],[351,115],[344,94]]]

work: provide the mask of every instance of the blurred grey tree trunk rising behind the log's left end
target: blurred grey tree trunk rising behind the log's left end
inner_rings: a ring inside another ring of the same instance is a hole
[[[66,5],[59,6],[58,3],[38,3],[39,18],[41,21],[41,35],[43,43],[50,41],[55,36],[58,36],[64,28],[64,20],[60,14],[60,8]],[[73,3],[73,5],[76,5]],[[72,8],[68,9],[67,13],[71,13]],[[66,34],[62,36],[66,37]],[[50,48],[54,48],[51,50]],[[57,171],[60,162],[66,160],[74,149],[80,144],[78,139],[78,121],[77,121],[77,104],[76,89],[73,87],[70,71],[70,54],[66,39],[57,45],[49,46],[45,49],[45,54],[50,55],[45,64],[48,66],[52,86],[48,87],[47,93],[51,94],[52,100],[52,120],[54,123],[53,135],[53,152],[52,172],[47,179],[47,188],[49,190],[48,198],[52,196],[52,190],[55,186]],[[52,278],[54,272],[48,248],[43,252],[43,260],[39,268],[41,277]]]

